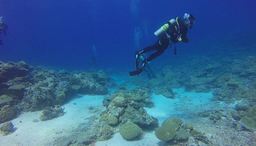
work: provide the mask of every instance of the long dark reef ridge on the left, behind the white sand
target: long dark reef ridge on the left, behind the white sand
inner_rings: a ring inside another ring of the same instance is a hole
[[[96,73],[55,72],[33,68],[24,61],[0,62],[0,122],[14,116],[14,111],[38,111],[62,105],[77,93],[106,94],[109,82],[114,85],[103,70]]]

